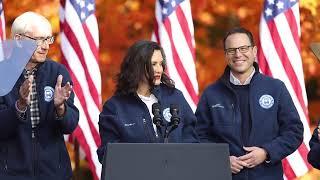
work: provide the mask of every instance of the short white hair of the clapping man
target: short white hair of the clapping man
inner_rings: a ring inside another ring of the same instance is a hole
[[[29,11],[21,14],[13,21],[11,36],[32,32],[33,26],[49,26],[51,28],[50,22],[44,16]]]

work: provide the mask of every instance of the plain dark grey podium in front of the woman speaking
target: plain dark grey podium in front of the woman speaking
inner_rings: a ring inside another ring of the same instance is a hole
[[[110,143],[102,180],[231,180],[229,147],[215,143]]]

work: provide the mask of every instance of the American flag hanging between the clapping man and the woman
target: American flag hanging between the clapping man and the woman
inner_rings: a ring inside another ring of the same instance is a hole
[[[73,80],[79,125],[72,134],[88,160],[94,179],[101,165],[96,154],[100,145],[98,119],[101,107],[99,33],[94,0],[60,0],[62,63]]]

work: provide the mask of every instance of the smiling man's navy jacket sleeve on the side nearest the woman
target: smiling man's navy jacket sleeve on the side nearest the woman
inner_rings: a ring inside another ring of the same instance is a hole
[[[209,105],[206,98],[206,92],[202,94],[195,114],[197,117],[196,131],[198,133],[200,142],[212,142],[212,140],[210,140],[212,138],[210,138],[209,136],[209,127],[211,119]]]

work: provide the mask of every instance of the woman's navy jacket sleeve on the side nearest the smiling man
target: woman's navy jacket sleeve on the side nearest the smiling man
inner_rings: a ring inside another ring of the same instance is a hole
[[[194,115],[191,107],[181,93],[183,101],[183,127],[182,127],[182,142],[184,143],[198,143],[199,138],[196,133],[197,118]]]

